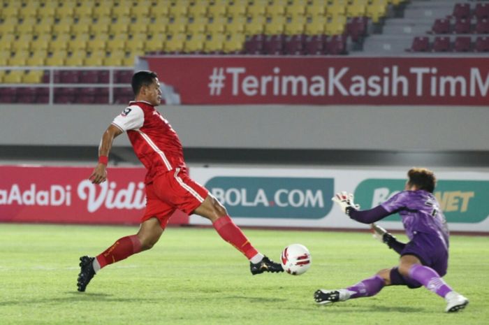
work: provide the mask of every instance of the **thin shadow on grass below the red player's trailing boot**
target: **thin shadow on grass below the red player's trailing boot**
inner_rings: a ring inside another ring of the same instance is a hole
[[[112,294],[92,294],[89,292],[78,292],[78,291],[66,291],[64,292],[66,296],[57,296],[52,298],[38,298],[38,299],[25,299],[22,301],[0,301],[0,306],[9,305],[37,305],[37,304],[52,304],[52,303],[68,303],[68,302],[116,302],[116,303],[140,303],[145,301],[147,303],[158,303],[157,299],[145,299],[133,297],[121,298],[119,296],[113,297]]]

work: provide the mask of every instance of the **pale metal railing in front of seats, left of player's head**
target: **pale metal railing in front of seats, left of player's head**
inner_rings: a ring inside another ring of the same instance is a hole
[[[0,66],[0,71],[49,71],[49,82],[40,83],[0,83],[0,88],[48,88],[49,89],[49,101],[50,105],[54,104],[54,89],[55,88],[108,88],[108,103],[114,101],[114,89],[115,88],[127,88],[130,87],[128,83],[115,83],[114,72],[115,71],[131,71],[131,68],[120,66]],[[108,71],[107,83],[57,83],[54,80],[55,71]]]

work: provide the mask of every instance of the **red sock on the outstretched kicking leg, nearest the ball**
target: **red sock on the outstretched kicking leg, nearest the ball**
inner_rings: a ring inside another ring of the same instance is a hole
[[[245,254],[248,259],[251,259],[251,257],[258,254],[258,251],[251,246],[251,243],[249,243],[245,234],[234,224],[233,220],[228,215],[217,219],[212,226],[214,226],[214,229],[216,229],[222,239],[236,247],[236,249]]]

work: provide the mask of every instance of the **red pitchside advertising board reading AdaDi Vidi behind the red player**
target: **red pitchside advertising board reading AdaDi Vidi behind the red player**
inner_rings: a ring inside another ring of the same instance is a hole
[[[89,167],[0,166],[0,222],[139,224],[145,168],[109,168],[94,185]],[[170,224],[188,224],[177,211]]]

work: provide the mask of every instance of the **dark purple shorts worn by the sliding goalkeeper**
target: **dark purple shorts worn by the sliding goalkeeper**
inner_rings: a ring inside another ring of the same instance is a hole
[[[414,255],[418,257],[424,266],[429,266],[442,277],[446,275],[448,268],[448,250],[441,238],[430,233],[416,233],[414,238],[406,244],[401,256]],[[391,283],[393,285],[404,284],[409,288],[418,288],[422,284],[409,277],[404,277],[397,268],[391,270]]]

